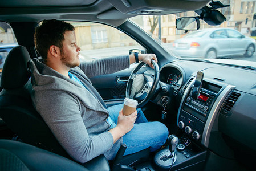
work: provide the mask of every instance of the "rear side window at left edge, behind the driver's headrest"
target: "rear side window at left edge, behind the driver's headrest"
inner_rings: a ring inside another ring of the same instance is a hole
[[[10,50],[17,45],[18,43],[15,39],[11,26],[8,23],[0,22],[0,78],[6,56]]]

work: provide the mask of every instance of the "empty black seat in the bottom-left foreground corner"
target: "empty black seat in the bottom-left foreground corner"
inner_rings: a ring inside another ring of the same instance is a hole
[[[88,171],[67,158],[13,140],[0,140],[0,158],[0,170]]]

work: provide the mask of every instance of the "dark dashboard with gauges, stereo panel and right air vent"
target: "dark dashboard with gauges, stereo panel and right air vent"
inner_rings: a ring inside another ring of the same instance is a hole
[[[192,92],[204,73],[199,98]],[[256,71],[180,60],[165,64],[160,82],[173,87],[177,126],[194,143],[222,156],[256,152]],[[229,151],[229,149],[231,149]]]

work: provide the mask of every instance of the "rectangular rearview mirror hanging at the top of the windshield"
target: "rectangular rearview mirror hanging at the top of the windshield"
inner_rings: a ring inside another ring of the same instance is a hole
[[[200,21],[198,17],[181,17],[176,19],[176,28],[178,30],[198,30]]]

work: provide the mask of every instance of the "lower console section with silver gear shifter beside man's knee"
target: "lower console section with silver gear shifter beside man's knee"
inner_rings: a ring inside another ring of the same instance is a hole
[[[169,146],[155,154],[154,168],[166,171],[184,169],[203,170],[206,150],[200,148],[200,146],[194,144],[186,137],[180,137],[180,139],[176,137],[176,142],[169,141],[170,136],[168,137]]]

